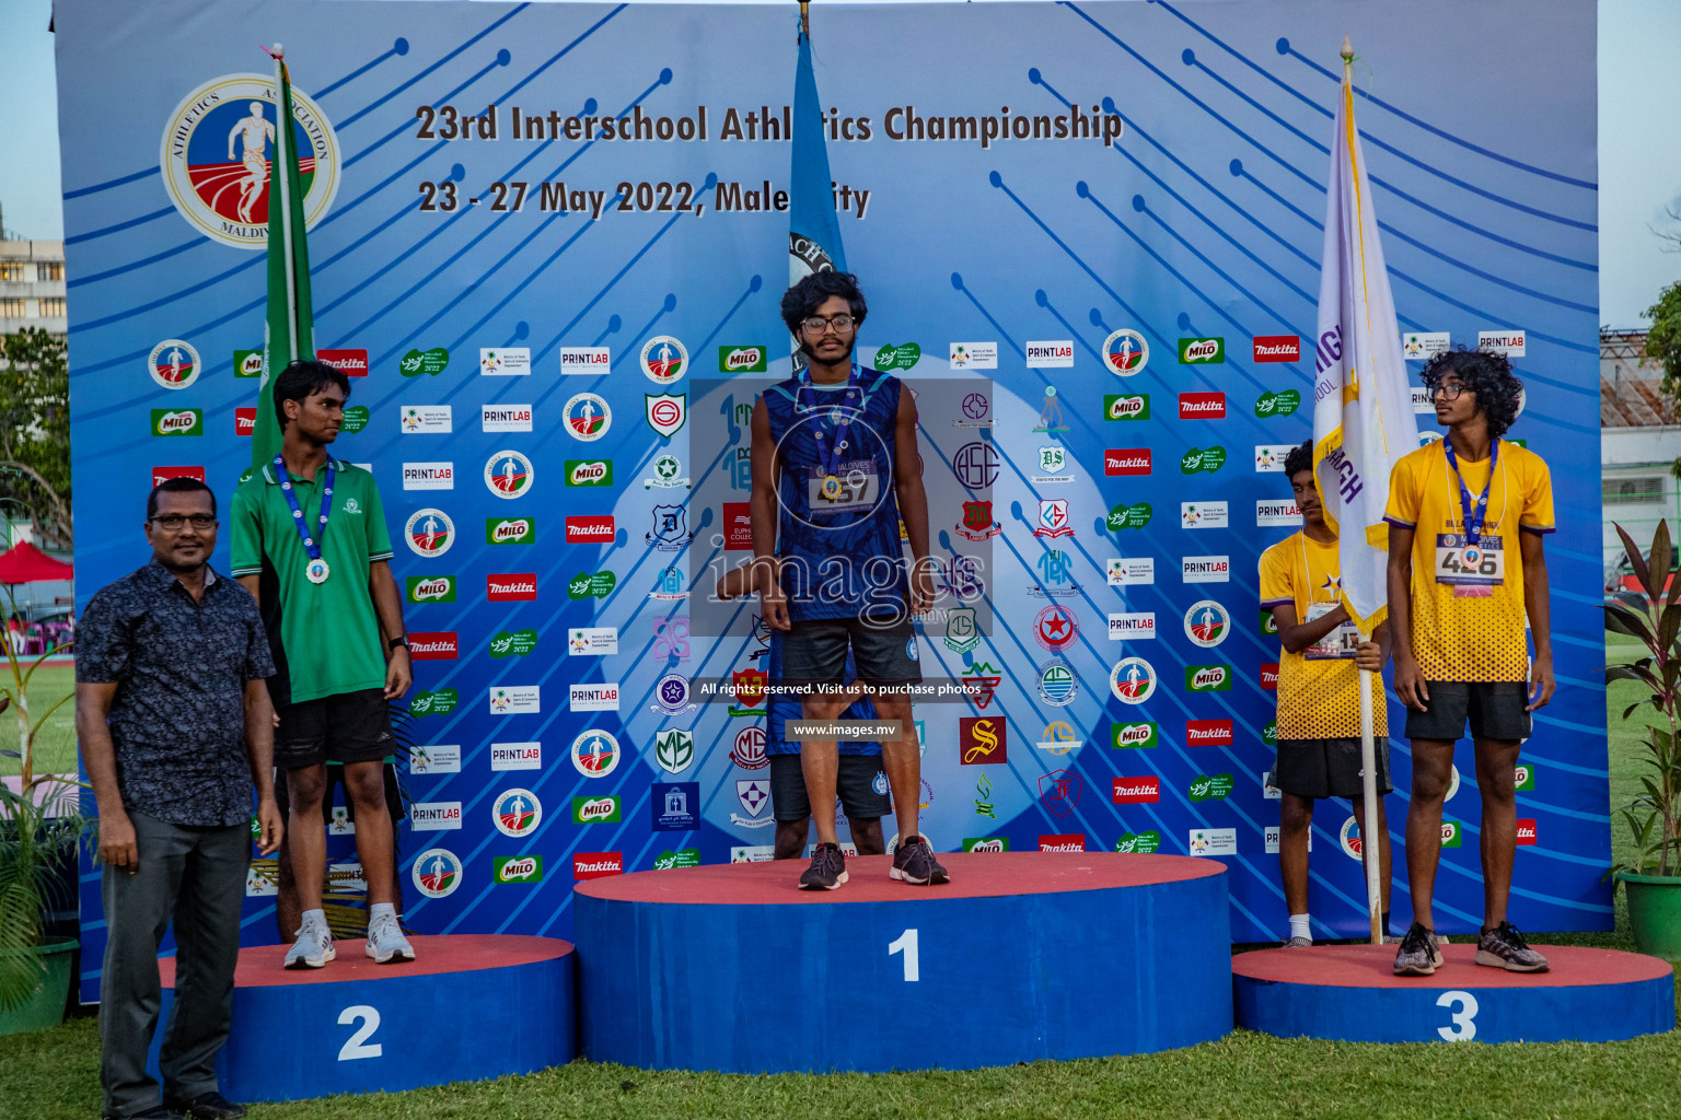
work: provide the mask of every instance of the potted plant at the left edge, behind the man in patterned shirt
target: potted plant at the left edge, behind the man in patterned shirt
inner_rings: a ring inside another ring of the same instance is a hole
[[[0,782],[0,1034],[64,1019],[79,945],[76,939],[49,939],[45,925],[52,908],[74,902],[59,895],[66,892],[62,868],[74,866],[76,845],[89,831],[89,818],[79,811],[81,782],[35,774],[35,734],[71,695],[35,719],[29,712],[30,677],[69,645],[40,653],[27,668],[10,643],[5,648],[12,680],[0,685],[0,712],[17,714],[18,749],[0,756],[18,759],[22,777],[17,791]]]

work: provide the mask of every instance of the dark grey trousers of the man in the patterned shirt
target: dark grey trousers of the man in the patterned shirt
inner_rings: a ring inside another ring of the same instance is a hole
[[[146,1049],[163,999],[158,945],[175,920],[175,1006],[158,1068],[163,1095],[217,1090],[215,1056],[227,1043],[239,962],[239,913],[250,865],[250,826],[188,828],[129,813],[140,870],[106,865],[101,897],[106,957],[99,981],[99,1086],[104,1113],[156,1108]]]

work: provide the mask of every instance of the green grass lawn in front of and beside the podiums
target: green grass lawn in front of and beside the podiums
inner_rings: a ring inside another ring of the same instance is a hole
[[[1612,658],[1634,657],[1612,646]],[[67,687],[67,685],[61,685]],[[1639,699],[1619,682],[1610,710],[1610,803],[1634,796],[1637,730],[1622,709]],[[15,730],[13,730],[15,735]],[[1612,826],[1619,856],[1627,848]],[[1552,935],[1550,942],[1632,949],[1620,892],[1615,934]],[[1089,982],[1094,977],[1072,977]],[[977,989],[983,997],[985,987]],[[765,999],[775,994],[763,994]],[[977,1014],[985,1014],[977,1007]],[[518,1029],[518,1024],[508,1024]],[[916,1034],[940,1031],[914,1006],[903,1024],[834,1023],[830,1029],[893,1029],[914,1061]],[[287,1028],[276,1028],[284,1044]],[[20,1120],[84,1120],[99,1110],[94,1018],[0,1038],[0,1113]],[[846,1117],[1022,1117],[1025,1120],[1452,1120],[1456,1117],[1681,1117],[1681,1033],[1627,1043],[1508,1043],[1488,1046],[1323,1043],[1234,1031],[1217,1043],[1136,1058],[1041,1061],[967,1073],[726,1076],[649,1073],[575,1061],[523,1078],[447,1085],[410,1093],[329,1096],[252,1107],[254,1120],[785,1120]]]

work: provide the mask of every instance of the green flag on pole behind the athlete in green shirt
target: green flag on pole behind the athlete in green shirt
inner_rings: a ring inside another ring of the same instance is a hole
[[[274,374],[294,358],[314,358],[314,311],[309,302],[309,249],[304,245],[304,188],[298,171],[292,81],[279,44],[271,54],[277,113],[267,198],[269,316],[262,329],[262,386],[257,390],[257,430],[250,440],[252,470],[281,452],[281,423],[274,418]]]

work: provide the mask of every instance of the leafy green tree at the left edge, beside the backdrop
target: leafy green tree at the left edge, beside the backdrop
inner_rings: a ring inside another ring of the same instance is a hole
[[[0,505],[12,502],[40,541],[74,546],[71,371],[64,343],[39,327],[0,336]]]

